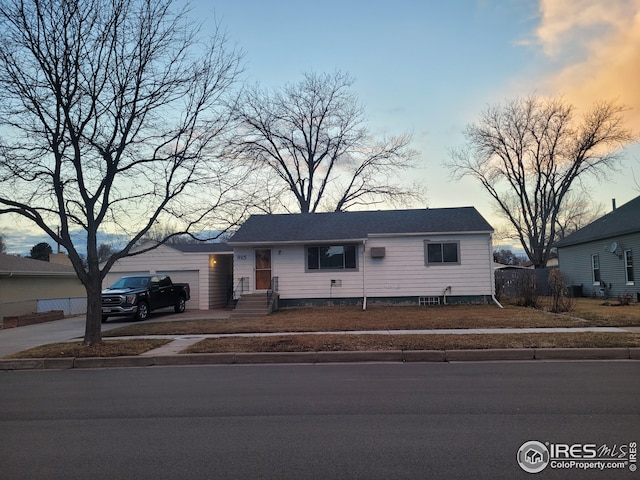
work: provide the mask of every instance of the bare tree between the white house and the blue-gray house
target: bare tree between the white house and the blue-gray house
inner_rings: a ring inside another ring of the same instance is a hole
[[[606,175],[633,140],[622,112],[601,102],[577,119],[562,99],[518,98],[487,108],[447,165],[454,178],[480,182],[529,259],[544,267],[576,182]]]

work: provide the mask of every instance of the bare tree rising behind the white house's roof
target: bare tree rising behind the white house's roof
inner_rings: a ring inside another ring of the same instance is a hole
[[[398,181],[417,156],[411,136],[372,139],[352,85],[345,73],[307,73],[274,92],[250,88],[239,102],[235,154],[275,172],[288,194],[278,194],[285,210],[343,211],[421,198],[417,186]]]

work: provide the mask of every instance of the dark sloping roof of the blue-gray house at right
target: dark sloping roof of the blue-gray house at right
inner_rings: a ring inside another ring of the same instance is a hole
[[[640,197],[634,198],[604,217],[557,241],[554,246],[568,247],[630,233],[640,233]]]

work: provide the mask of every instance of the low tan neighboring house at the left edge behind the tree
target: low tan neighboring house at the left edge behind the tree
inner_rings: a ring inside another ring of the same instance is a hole
[[[86,308],[86,296],[84,286],[69,265],[0,255],[0,319],[37,312],[39,303],[46,300],[55,305],[53,300],[85,299]]]

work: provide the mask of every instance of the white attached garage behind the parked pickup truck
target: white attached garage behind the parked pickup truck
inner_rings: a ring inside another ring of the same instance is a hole
[[[144,248],[141,245],[138,250]],[[189,283],[191,300],[187,309],[221,308],[231,298],[233,252],[226,243],[160,245],[118,260],[102,285],[106,288],[126,275],[148,274],[169,275],[174,282]]]

